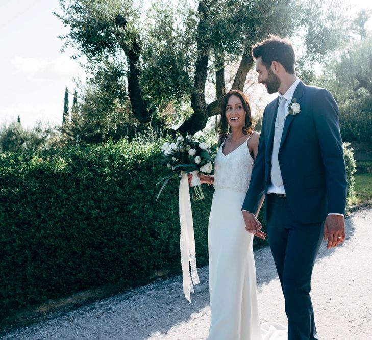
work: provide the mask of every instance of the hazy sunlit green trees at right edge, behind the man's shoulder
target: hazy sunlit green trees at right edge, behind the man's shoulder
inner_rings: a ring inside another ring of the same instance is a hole
[[[360,34],[318,80],[329,89],[340,109],[340,130],[345,142],[370,142],[372,137],[372,36],[365,23],[370,17],[361,11],[351,26]]]

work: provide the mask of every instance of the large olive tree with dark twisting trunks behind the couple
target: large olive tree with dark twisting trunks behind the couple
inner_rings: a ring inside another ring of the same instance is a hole
[[[306,77],[312,62],[336,48],[342,21],[340,7],[321,0],[155,0],[150,8],[131,0],[59,2],[61,13],[55,14],[69,27],[61,37],[64,47],[79,51],[74,58],[91,74],[88,84],[94,87],[108,63],[122,72],[120,94],[107,96],[108,110],[101,115],[110,116],[114,99],[138,123],[181,133],[203,129],[219,113],[226,91],[244,89],[254,64],[253,44],[269,34],[297,36],[298,66]],[[225,70],[231,65],[236,71],[226,88]],[[210,82],[214,96],[207,98]],[[95,120],[98,111],[92,113]]]

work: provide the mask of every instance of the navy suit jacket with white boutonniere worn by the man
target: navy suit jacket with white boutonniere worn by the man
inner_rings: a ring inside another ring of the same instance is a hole
[[[289,207],[301,223],[323,221],[328,213],[345,213],[346,169],[338,107],[326,89],[297,85],[293,98],[301,112],[288,115],[278,154]],[[258,154],[242,209],[255,213],[271,183],[271,155],[279,97],[263,113]],[[266,207],[266,214],[267,215]]]

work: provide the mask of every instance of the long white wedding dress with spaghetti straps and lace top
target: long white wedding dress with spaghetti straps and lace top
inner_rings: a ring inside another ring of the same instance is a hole
[[[227,155],[222,146],[214,163],[215,192],[208,227],[208,340],[286,339],[285,327],[275,323],[260,327],[259,322],[253,234],[245,230],[241,213],[254,161],[246,142]]]

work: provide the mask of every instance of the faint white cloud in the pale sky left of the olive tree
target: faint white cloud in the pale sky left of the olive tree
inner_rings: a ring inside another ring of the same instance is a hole
[[[52,60],[17,56],[12,64],[19,72],[37,80],[70,79],[84,74],[78,63],[65,55]]]

